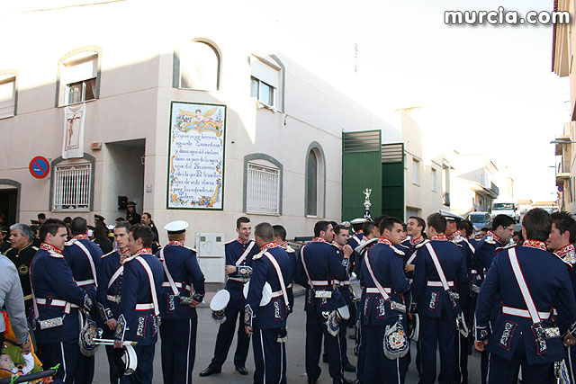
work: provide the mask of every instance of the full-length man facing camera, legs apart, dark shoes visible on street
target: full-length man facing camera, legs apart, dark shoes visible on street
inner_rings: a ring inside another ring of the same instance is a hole
[[[238,218],[236,220],[236,232],[238,233],[238,239],[229,241],[224,246],[224,253],[226,254],[225,271],[228,275],[226,290],[230,293],[228,307],[226,307],[225,312],[226,321],[220,324],[218,329],[216,345],[214,346],[214,357],[208,368],[200,372],[200,376],[220,373],[234,338],[234,328],[236,328],[238,317],[240,317],[238,322],[238,345],[236,353],[234,353],[234,366],[240,374],[248,374],[246,358],[250,340],[246,335],[244,323],[242,322],[242,315],[244,314],[242,290],[252,274],[252,256],[257,255],[258,247],[254,240],[250,239],[250,234],[252,233],[250,219],[246,217]]]

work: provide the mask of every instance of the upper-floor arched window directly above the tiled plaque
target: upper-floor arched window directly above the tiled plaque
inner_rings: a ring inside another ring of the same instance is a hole
[[[193,40],[180,49],[178,87],[200,91],[220,88],[220,55],[211,44]]]

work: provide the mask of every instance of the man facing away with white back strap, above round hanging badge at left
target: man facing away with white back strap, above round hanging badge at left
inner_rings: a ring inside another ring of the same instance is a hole
[[[66,259],[72,276],[78,286],[82,287],[92,302],[96,302],[96,288],[98,286],[96,270],[100,265],[102,250],[88,238],[88,228],[86,219],[76,217],[70,223],[72,239],[64,245],[64,259]],[[96,318],[94,312],[85,315]],[[82,326],[82,325],[81,325]],[[78,369],[76,371],[76,382],[89,384],[94,379],[94,356],[80,354],[78,359]]]

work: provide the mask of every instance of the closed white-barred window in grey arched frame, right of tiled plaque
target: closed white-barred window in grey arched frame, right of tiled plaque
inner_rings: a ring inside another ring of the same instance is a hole
[[[247,212],[279,214],[280,170],[256,163],[247,165]]]

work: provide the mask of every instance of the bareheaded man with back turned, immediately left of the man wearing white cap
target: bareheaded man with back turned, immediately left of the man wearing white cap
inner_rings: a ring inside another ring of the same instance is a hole
[[[162,263],[152,255],[152,231],[148,226],[135,224],[128,233],[130,257],[124,260],[118,324],[114,334],[114,348],[122,348],[122,342],[138,342],[134,351],[138,367],[122,382],[152,382],[154,346],[157,342],[158,315],[157,296],[164,280]]]

